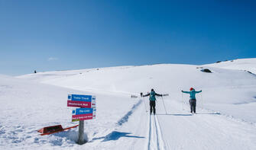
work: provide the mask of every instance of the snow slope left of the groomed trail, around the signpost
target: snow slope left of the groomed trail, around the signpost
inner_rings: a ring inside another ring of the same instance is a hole
[[[37,132],[44,126],[77,124],[71,122],[72,108],[66,107],[69,93],[93,94],[0,75],[0,149],[79,149],[78,129],[51,136]],[[134,100],[122,94],[96,95],[97,121],[86,121],[90,141],[112,132],[119,122],[125,123],[125,115],[134,105]]]

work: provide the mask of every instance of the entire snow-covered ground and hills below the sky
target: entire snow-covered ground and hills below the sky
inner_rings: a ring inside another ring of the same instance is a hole
[[[0,76],[0,148],[254,149],[256,76],[245,70],[253,72],[255,60]],[[203,90],[197,94],[196,115],[190,114],[189,95],[180,92],[190,87]],[[151,88],[170,96],[157,98],[157,115],[150,117],[145,112],[148,97],[130,96]],[[43,126],[75,124],[66,107],[70,92],[97,97],[96,120],[86,121],[86,145],[76,145],[77,129],[50,136],[36,132]]]

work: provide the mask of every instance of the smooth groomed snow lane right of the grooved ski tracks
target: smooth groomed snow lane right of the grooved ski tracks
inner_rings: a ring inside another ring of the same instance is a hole
[[[157,119],[164,136],[162,149],[248,149],[256,148],[256,127],[232,120],[220,113],[197,107],[196,114],[189,113],[189,105],[167,99],[168,113],[158,103]]]

